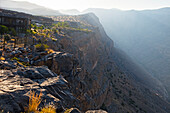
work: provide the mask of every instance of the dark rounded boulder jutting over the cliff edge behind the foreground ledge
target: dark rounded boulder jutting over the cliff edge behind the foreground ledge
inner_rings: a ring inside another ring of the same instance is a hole
[[[77,72],[78,60],[69,53],[55,52],[45,56],[36,55],[32,58],[34,66],[48,66],[53,72],[62,74],[64,77],[75,75]]]

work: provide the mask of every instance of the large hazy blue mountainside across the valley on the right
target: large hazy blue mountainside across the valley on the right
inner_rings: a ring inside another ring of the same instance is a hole
[[[159,79],[170,95],[170,8],[87,9],[95,13],[115,46]]]

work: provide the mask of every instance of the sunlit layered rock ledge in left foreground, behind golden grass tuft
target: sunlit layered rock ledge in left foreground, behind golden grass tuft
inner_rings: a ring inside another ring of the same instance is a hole
[[[4,112],[24,112],[30,91],[42,92],[40,107],[53,105],[62,111],[76,105],[67,81],[47,67],[0,70],[0,109]]]

